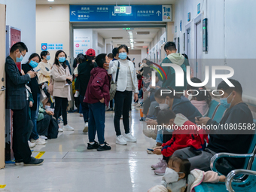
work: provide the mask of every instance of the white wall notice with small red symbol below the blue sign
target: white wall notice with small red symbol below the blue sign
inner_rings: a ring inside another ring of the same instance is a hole
[[[80,53],[85,54],[91,47],[91,38],[87,35],[74,36],[74,57],[78,56]]]

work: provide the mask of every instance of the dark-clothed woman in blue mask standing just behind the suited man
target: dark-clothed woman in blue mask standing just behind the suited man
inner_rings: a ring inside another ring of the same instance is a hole
[[[22,69],[24,73],[26,74],[29,71],[35,71],[38,67],[38,62],[40,61],[40,56],[38,53],[32,53],[31,56],[29,56],[29,61],[22,65]],[[38,84],[38,76],[33,78],[32,81],[29,82],[28,86],[31,89],[32,96],[34,99],[34,105],[31,108],[31,120],[33,122],[33,130],[30,136],[31,142],[35,143],[36,145],[45,145],[45,140],[41,139],[41,137],[38,135],[37,130],[37,119],[38,119],[38,110],[39,110],[39,104],[40,104],[40,84]]]

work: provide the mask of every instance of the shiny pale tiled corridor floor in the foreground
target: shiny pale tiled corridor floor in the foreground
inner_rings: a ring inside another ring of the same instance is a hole
[[[113,112],[106,113],[105,140],[111,151],[87,151],[87,134],[83,117],[68,114],[69,124],[75,132],[60,133],[45,146],[36,146],[32,154],[45,151],[42,166],[6,165],[0,170],[0,191],[91,191],[91,192],[142,192],[160,184],[161,177],[154,175],[151,164],[160,156],[147,154],[145,149],[155,143],[142,133],[139,111],[133,109],[130,123],[138,142],[128,145],[115,144]],[[120,121],[121,130],[123,123]]]

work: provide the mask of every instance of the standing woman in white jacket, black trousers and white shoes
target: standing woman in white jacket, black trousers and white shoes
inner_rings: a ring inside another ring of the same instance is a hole
[[[118,62],[120,63],[119,74],[117,77],[117,92],[114,96],[114,129],[117,135],[116,143],[126,145],[127,142],[137,142],[137,139],[130,133],[129,111],[132,103],[133,90],[134,99],[138,100],[138,82],[136,69],[133,62],[127,59],[129,53],[125,44],[118,47],[119,58],[114,61],[113,66],[108,69],[108,74],[113,75],[115,81],[117,75]],[[123,126],[125,134],[120,132],[120,117],[123,114]]]

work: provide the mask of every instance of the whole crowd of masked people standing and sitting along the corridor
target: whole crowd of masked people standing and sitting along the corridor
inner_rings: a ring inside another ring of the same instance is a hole
[[[187,56],[176,53],[175,43],[167,42],[164,50],[167,56],[162,63],[174,63],[186,73],[189,67]],[[49,52],[42,51],[41,56],[32,53],[20,72],[15,62],[21,62],[27,51],[28,48],[22,42],[14,44],[5,63],[7,108],[14,111],[13,150],[17,164],[43,163],[44,160],[31,157],[29,147],[45,145],[45,140],[56,138],[58,132],[74,130],[67,121],[72,82],[75,105],[84,117],[83,132],[88,132],[88,150],[111,150],[105,141],[105,111],[114,111],[117,145],[137,141],[130,132],[133,102],[137,103],[136,107],[143,108],[140,120],[147,127],[253,123],[248,105],[242,102],[242,85],[239,81],[229,79],[234,87],[229,87],[225,81],[218,84],[218,90],[223,92],[221,105],[227,109],[218,123],[206,117],[212,101],[211,93],[200,91],[206,90],[206,87],[191,87],[187,84],[186,75],[184,87],[176,87],[175,70],[163,66],[166,77],[162,76],[153,71],[154,62],[148,59],[143,59],[136,71],[134,62],[128,57],[129,49],[124,44],[108,54],[96,56],[93,49],[87,50],[85,55],[78,54],[73,65],[73,75],[63,50],[56,52],[53,65],[48,62]],[[153,73],[156,82],[152,82]],[[190,81],[202,82],[193,78],[193,75]],[[175,94],[175,91],[184,91],[186,94]],[[114,99],[111,99],[112,94]],[[60,117],[63,120],[62,128],[58,125]],[[123,134],[120,119],[123,120]],[[152,187],[149,190],[151,192],[186,191],[192,190],[202,181],[225,181],[225,176],[210,171],[211,158],[220,152],[246,154],[252,139],[252,134],[227,135],[219,134],[218,131],[207,133],[206,130],[192,134],[181,133],[173,128],[143,129],[143,133],[156,140],[154,147],[148,148],[148,154],[161,156],[160,161],[151,168],[154,174],[163,175],[163,181]],[[244,162],[243,159],[224,158],[217,164],[220,172],[227,175],[233,169],[242,168]]]

